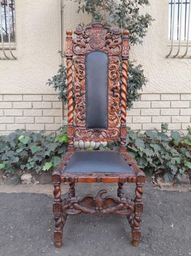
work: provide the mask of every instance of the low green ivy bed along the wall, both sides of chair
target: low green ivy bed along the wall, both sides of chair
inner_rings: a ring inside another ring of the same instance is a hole
[[[188,134],[180,137],[178,131],[167,132],[168,125],[162,124],[161,131],[141,130],[136,132],[128,127],[126,145],[129,155],[133,157],[147,176],[163,175],[165,180],[173,180],[175,175],[181,180],[185,172],[191,171],[191,127]],[[53,170],[67,150],[68,137],[66,128],[62,134],[54,132],[45,135],[16,130],[7,136],[0,136],[0,169],[14,173],[15,169],[36,171]],[[100,145],[100,150],[118,150],[120,142]],[[89,148],[88,150],[92,150]]]

